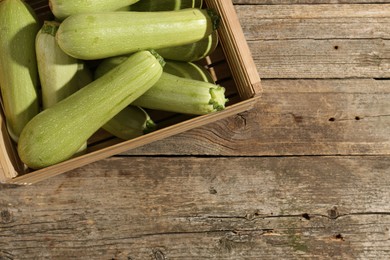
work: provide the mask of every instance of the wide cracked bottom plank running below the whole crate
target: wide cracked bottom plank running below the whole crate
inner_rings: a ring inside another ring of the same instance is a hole
[[[389,170],[385,156],[111,158],[1,186],[0,256],[386,259]]]

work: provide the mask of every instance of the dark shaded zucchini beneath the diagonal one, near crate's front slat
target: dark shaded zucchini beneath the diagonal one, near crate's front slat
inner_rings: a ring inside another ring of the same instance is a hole
[[[116,137],[130,140],[154,131],[156,124],[141,107],[127,106],[102,128]]]

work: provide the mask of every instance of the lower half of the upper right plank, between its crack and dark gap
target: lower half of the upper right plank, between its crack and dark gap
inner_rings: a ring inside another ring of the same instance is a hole
[[[390,41],[289,40],[249,42],[265,78],[389,78]]]

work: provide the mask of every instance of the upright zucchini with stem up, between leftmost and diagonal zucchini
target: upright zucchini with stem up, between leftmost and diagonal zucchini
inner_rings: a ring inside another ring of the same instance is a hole
[[[45,21],[36,37],[43,109],[53,106],[79,89],[78,73],[82,64],[58,46],[55,39],[58,27],[58,22]]]

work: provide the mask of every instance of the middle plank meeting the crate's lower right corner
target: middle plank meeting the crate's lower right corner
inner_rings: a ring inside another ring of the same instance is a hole
[[[390,154],[390,81],[263,80],[254,109],[132,155]]]

